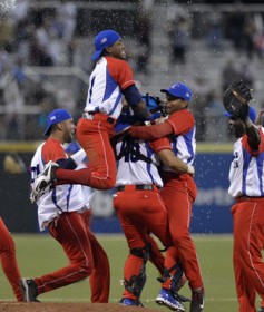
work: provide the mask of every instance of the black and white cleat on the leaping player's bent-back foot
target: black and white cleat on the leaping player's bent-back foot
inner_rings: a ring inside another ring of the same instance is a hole
[[[37,176],[31,185],[30,202],[32,204],[35,204],[39,197],[41,197],[46,192],[50,189],[50,186],[55,179],[55,168],[58,167],[58,164],[50,160],[45,165],[42,173]]]

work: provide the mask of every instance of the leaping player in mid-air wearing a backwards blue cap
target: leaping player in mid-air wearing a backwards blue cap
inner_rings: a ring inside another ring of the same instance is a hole
[[[116,119],[121,111],[121,99],[126,98],[139,119],[151,120],[145,101],[135,85],[134,74],[126,59],[121,37],[114,30],[104,30],[95,37],[96,67],[90,75],[89,89],[82,118],[77,125],[77,139],[89,158],[89,169],[72,172],[56,169],[48,164],[47,170],[67,183],[88,185],[98,189],[110,189],[116,183],[116,159],[109,139],[114,135]],[[51,168],[49,168],[49,166]],[[47,172],[43,173],[46,175]],[[32,185],[38,193],[45,183],[39,177]]]

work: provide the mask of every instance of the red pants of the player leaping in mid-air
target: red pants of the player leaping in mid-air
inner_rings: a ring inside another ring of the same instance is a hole
[[[104,114],[97,114],[107,117]],[[100,117],[97,117],[100,118]],[[81,184],[97,189],[110,189],[116,183],[116,158],[110,144],[114,126],[106,120],[80,118],[76,137],[89,159],[88,168],[80,170],[57,169],[59,184]]]

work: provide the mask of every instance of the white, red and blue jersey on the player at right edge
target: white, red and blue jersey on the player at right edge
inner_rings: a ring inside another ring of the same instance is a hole
[[[253,152],[247,143],[247,136],[234,144],[233,160],[229,169],[228,193],[233,197],[264,196],[264,139],[260,129],[261,144],[257,152]]]

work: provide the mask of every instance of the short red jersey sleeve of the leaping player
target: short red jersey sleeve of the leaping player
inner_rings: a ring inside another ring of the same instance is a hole
[[[109,74],[117,81],[121,90],[136,85],[131,67],[127,61],[106,57]]]

